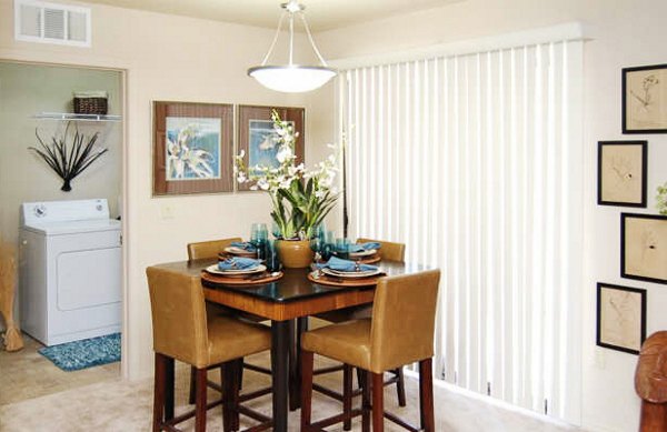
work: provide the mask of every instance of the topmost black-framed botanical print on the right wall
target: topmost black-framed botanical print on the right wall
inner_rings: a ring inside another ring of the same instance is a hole
[[[623,133],[667,133],[667,64],[623,70]]]

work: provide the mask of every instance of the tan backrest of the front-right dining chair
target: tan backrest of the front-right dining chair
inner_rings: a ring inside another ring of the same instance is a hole
[[[370,329],[372,372],[434,355],[439,282],[439,270],[380,279]]]

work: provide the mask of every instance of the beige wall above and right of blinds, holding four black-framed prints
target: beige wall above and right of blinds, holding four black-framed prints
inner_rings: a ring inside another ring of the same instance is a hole
[[[585,278],[583,302],[583,416],[587,429],[637,430],[639,400],[633,388],[637,356],[595,344],[596,281],[648,291],[648,334],[667,328],[665,285],[620,278],[619,213],[596,205],[598,140],[647,139],[648,209],[667,180],[667,137],[620,133],[620,69],[665,63],[667,2],[664,0],[467,0],[440,9],[347,27],[317,36],[329,59],[391,52],[465,39],[580,21],[591,38],[585,47]],[[334,102],[329,102],[332,107]],[[575,359],[573,361],[579,361]]]

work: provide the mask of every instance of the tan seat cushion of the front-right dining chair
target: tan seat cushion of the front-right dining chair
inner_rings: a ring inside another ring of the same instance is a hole
[[[370,319],[311,330],[301,348],[365,370],[370,369]]]

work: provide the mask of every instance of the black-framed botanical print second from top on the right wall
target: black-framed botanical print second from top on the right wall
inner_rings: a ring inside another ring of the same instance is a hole
[[[598,204],[646,207],[646,141],[598,142]]]

